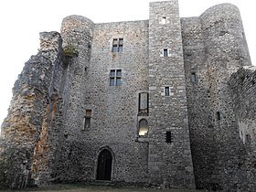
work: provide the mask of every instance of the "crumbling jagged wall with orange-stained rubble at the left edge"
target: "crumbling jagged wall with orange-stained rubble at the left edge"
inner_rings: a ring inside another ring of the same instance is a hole
[[[16,80],[8,116],[2,124],[1,185],[6,187],[32,185],[37,146],[47,147],[40,141],[47,132],[44,114],[54,90],[52,80],[59,63],[61,38],[57,32],[41,33],[40,41],[40,51],[27,61]]]

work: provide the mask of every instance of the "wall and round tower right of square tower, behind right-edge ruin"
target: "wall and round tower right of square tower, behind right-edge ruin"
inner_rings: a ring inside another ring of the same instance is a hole
[[[251,65],[239,10],[216,5],[182,21],[197,187],[246,190],[245,169],[240,167],[243,148],[228,85],[231,73]],[[193,83],[191,73],[196,74]]]

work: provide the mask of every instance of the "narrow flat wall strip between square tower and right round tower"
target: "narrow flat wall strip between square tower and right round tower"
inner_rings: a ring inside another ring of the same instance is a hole
[[[213,178],[218,150],[212,123],[214,114],[209,108],[208,65],[200,18],[182,18],[181,26],[192,159],[197,188],[200,188],[218,183]]]

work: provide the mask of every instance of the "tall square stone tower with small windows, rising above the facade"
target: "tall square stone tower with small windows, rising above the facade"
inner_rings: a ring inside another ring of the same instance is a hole
[[[178,1],[150,3],[150,183],[195,187]]]

